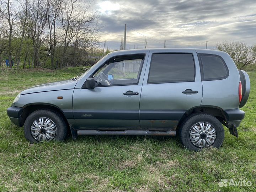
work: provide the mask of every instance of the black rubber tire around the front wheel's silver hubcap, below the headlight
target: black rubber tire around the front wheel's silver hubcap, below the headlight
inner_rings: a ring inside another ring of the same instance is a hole
[[[39,109],[32,112],[25,120],[24,134],[31,143],[38,143],[31,134],[31,126],[37,118],[46,117],[53,121],[56,126],[56,134],[53,140],[63,141],[67,135],[67,125],[65,119],[56,111],[50,109]]]

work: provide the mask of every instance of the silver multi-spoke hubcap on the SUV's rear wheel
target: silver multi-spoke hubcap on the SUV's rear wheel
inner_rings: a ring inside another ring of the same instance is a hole
[[[190,129],[190,141],[198,148],[206,148],[216,140],[216,130],[212,124],[199,122]]]

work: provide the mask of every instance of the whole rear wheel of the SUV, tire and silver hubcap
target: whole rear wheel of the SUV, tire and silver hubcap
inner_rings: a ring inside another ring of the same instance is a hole
[[[195,151],[210,146],[219,148],[224,140],[224,129],[220,121],[205,113],[188,116],[178,131],[181,143]]]

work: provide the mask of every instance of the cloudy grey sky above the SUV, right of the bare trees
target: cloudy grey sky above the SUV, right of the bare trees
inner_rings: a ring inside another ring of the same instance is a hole
[[[119,49],[124,23],[126,49],[144,48],[144,36],[148,48],[164,47],[164,40],[167,47],[196,48],[206,40],[208,48],[225,40],[256,43],[256,0],[95,0],[94,6],[110,49]]]

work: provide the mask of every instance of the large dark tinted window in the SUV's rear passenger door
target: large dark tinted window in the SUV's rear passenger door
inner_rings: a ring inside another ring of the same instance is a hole
[[[148,83],[194,81],[192,53],[155,53],[152,55]]]

